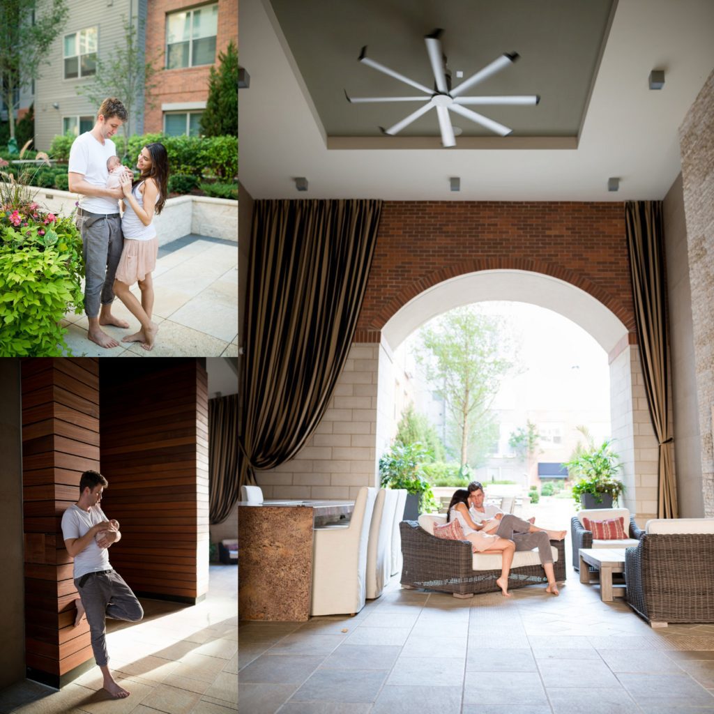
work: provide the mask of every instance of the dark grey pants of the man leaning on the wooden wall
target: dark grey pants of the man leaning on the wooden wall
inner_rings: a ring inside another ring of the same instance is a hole
[[[116,572],[87,573],[74,581],[87,615],[91,648],[100,667],[109,663],[106,653],[106,618],[136,623],[144,617],[144,608],[131,588]]]

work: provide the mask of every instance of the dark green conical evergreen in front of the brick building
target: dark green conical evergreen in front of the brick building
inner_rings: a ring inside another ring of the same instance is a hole
[[[218,69],[211,67],[201,133],[238,136],[238,51],[232,40],[225,52],[218,53]]]

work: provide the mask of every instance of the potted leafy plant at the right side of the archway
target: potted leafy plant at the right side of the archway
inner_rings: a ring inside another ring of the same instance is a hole
[[[587,443],[578,443],[563,463],[568,476],[579,477],[573,485],[573,498],[582,508],[612,508],[620,495],[625,493],[625,484],[615,475],[622,468],[620,456],[613,451],[613,440],[605,439],[599,446],[585,427],[578,427]]]

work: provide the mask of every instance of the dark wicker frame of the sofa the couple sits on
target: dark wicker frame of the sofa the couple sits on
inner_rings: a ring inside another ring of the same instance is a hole
[[[473,570],[473,553],[468,540],[444,540],[427,533],[416,521],[399,524],[403,555],[401,584],[411,588],[427,588],[441,593],[472,595],[492,593],[499,588],[496,578],[501,570]],[[558,550],[555,579],[565,580],[565,540],[551,540]],[[543,567],[522,565],[511,568],[509,588],[521,588],[533,583],[547,583]]]

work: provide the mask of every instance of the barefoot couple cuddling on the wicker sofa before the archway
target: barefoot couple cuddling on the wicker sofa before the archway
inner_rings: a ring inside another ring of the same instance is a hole
[[[550,551],[550,540],[563,540],[566,531],[545,531],[533,525],[531,521],[523,521],[511,513],[504,514],[496,506],[484,506],[483,486],[478,481],[468,484],[468,491],[459,488],[449,503],[446,522],[458,521],[463,531],[463,537],[473,545],[474,552],[501,553],[501,577],[496,584],[507,598],[508,573],[511,571],[513,553],[516,550],[532,550],[538,547],[540,563],[548,578],[546,592],[559,595],[558,583],[555,582],[553,571],[553,554]]]

